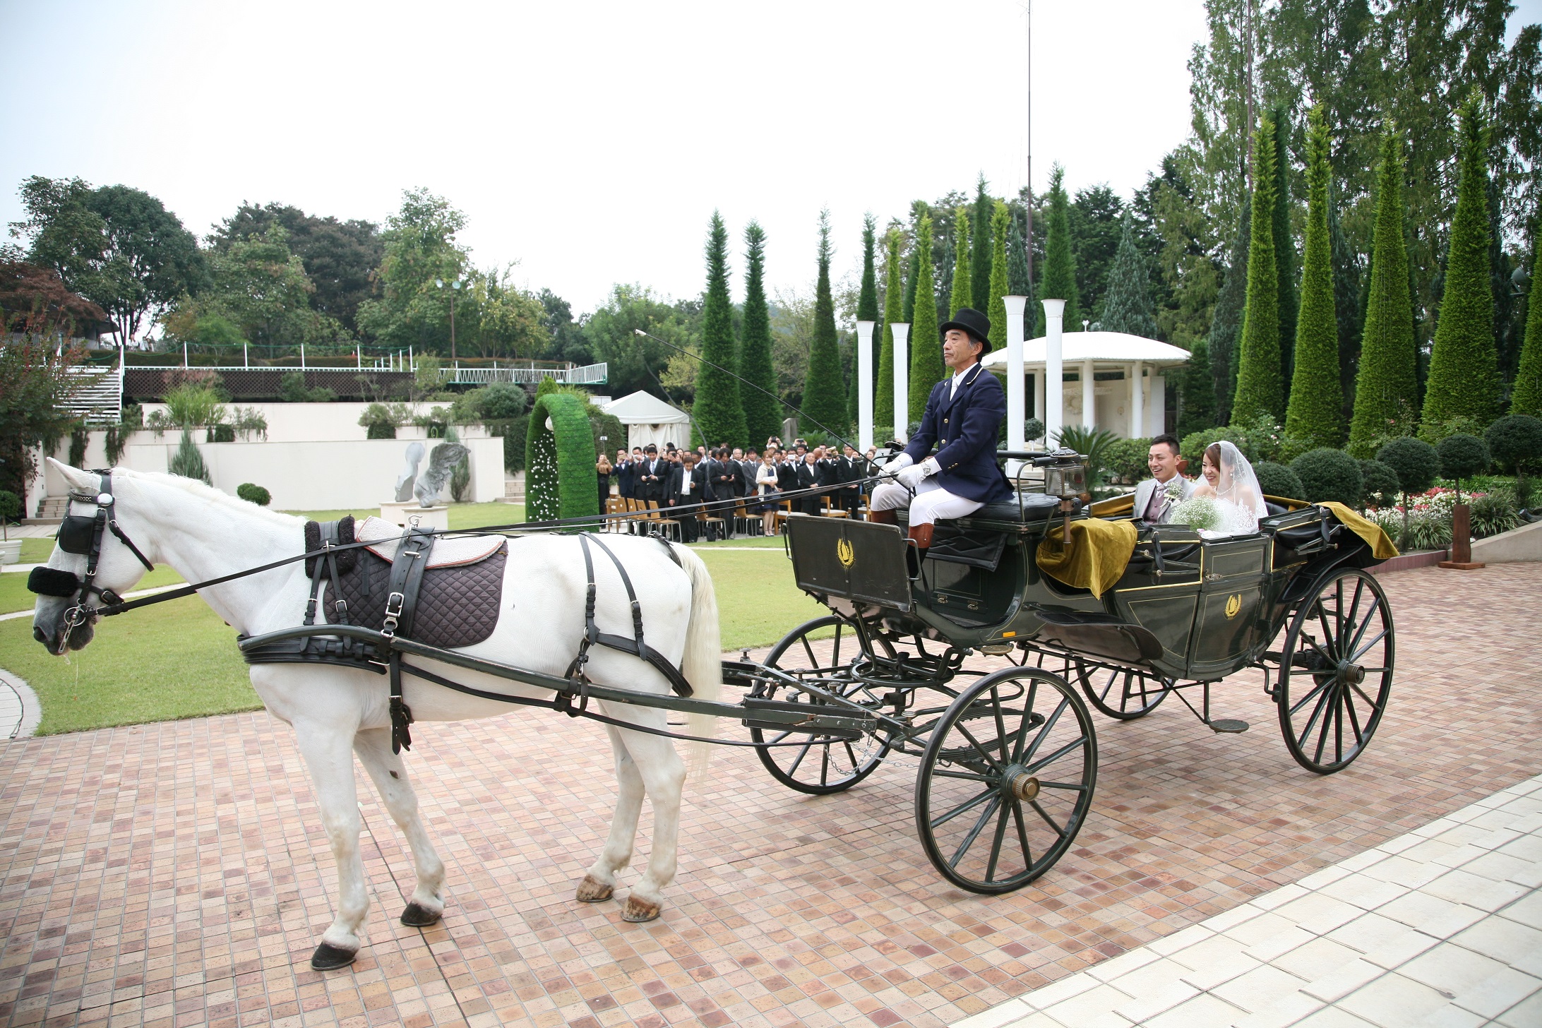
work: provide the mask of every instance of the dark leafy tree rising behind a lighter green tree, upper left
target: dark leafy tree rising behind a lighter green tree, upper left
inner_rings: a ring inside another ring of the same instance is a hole
[[[282,225],[290,250],[305,267],[316,287],[311,307],[328,314],[350,331],[358,328],[359,304],[375,293],[372,276],[386,256],[379,227],[373,222],[318,217],[287,203],[242,203],[221,222],[208,242],[214,253],[242,239],[267,236],[268,225]]]

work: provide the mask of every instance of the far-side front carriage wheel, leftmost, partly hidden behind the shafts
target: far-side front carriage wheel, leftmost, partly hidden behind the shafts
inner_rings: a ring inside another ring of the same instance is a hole
[[[831,640],[830,657],[825,658],[819,655],[820,647],[825,646],[823,640],[816,641],[810,637],[830,627],[834,627],[836,632]],[[862,646],[851,624],[843,618],[827,615],[788,632],[771,653],[766,655],[765,664],[788,672],[796,678],[814,680],[820,689],[850,697],[857,703],[873,700],[876,706],[877,697],[871,695],[870,687],[853,680],[850,674],[851,663],[860,652]],[[796,689],[783,689],[780,684],[773,686],[766,698],[790,703],[813,701],[808,694],[797,692]],[[760,763],[765,764],[773,778],[790,789],[811,795],[850,789],[877,771],[877,766],[884,761],[884,755],[888,752],[887,738],[879,738],[874,734],[864,735],[859,740],[831,740],[806,732],[776,732],[752,727],[749,729],[749,737],[756,741],[756,755],[760,757]],[[802,741],[802,744],[785,744],[797,741]],[[766,743],[783,744],[768,746]]]

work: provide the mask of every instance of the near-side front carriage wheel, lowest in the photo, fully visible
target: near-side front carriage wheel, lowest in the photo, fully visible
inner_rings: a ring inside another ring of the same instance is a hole
[[[1049,871],[1092,808],[1098,740],[1059,675],[1007,667],[959,694],[916,778],[916,829],[938,872],[1010,892]]]

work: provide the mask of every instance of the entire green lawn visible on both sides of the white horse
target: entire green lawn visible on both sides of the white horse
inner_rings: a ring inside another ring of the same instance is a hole
[[[507,512],[507,504],[478,504]],[[470,507],[470,506],[467,506]],[[453,507],[450,509],[453,513]],[[336,513],[347,512],[319,512]],[[763,646],[825,609],[793,584],[793,567],[780,555],[780,539],[739,539],[773,552],[697,547],[712,573],[722,615],[723,649]],[[140,587],[180,581],[170,569],[146,575]],[[26,575],[0,575],[0,600],[20,590],[29,609]],[[296,612],[298,623],[299,612]],[[581,626],[574,626],[577,633]],[[187,596],[143,607],[97,624],[96,640],[71,653],[69,663],[49,657],[32,641],[31,618],[0,621],[0,667],[20,675],[43,703],[40,734],[79,732],[113,724],[251,711],[261,706],[234,632],[202,600]]]

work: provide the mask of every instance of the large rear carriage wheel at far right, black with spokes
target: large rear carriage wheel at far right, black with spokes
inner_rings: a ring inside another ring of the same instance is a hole
[[[1348,768],[1371,741],[1392,690],[1392,612],[1372,575],[1340,569],[1295,610],[1275,704],[1295,763]]]

